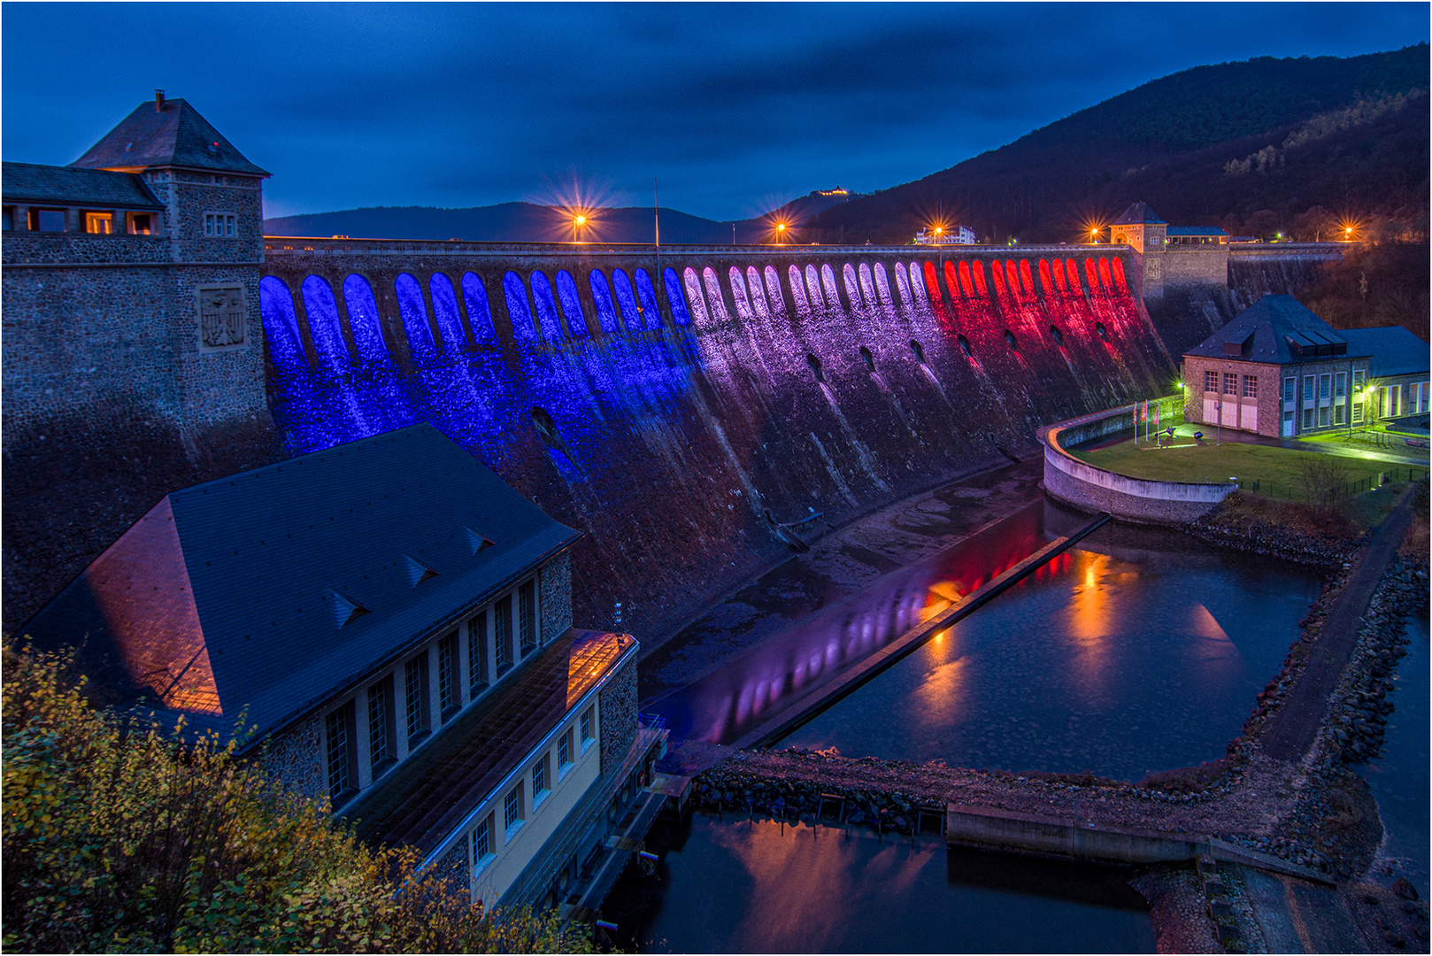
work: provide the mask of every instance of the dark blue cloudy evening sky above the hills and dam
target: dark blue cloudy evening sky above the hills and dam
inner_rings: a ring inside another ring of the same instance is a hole
[[[1425,3],[3,7],[3,153],[185,97],[269,215],[650,202],[716,219],[916,179],[1150,79],[1428,39]]]

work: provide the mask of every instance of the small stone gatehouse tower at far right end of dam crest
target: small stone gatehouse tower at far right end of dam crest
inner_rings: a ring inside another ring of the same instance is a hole
[[[1161,298],[1179,285],[1226,287],[1229,281],[1227,234],[1219,228],[1176,226],[1146,202],[1136,202],[1108,226],[1108,241],[1138,254],[1136,275],[1144,300]]]

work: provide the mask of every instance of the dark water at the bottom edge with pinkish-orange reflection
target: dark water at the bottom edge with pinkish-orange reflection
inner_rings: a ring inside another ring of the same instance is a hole
[[[695,814],[647,837],[603,906],[643,953],[1151,953],[1118,870],[949,851],[938,837]]]

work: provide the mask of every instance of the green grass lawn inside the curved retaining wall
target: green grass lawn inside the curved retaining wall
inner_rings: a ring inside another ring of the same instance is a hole
[[[1259,482],[1259,492],[1266,497],[1293,502],[1307,500],[1302,486],[1302,462],[1306,459],[1327,462],[1330,457],[1317,451],[1293,451],[1266,444],[1211,441],[1163,449],[1123,441],[1097,451],[1070,451],[1070,454],[1108,472],[1157,482],[1217,483],[1237,476],[1244,487]],[[1392,467],[1340,456],[1332,460],[1346,470],[1343,482],[1363,479]]]

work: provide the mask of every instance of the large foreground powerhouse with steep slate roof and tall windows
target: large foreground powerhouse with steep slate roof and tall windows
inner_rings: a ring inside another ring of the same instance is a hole
[[[571,626],[577,537],[420,424],[166,494],[20,634],[100,702],[242,715],[241,754],[475,902],[550,904],[660,806],[637,642]]]

